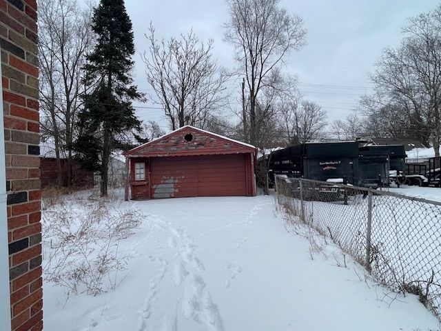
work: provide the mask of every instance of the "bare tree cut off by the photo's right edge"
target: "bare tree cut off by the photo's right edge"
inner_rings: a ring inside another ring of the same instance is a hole
[[[397,48],[384,50],[371,79],[384,101],[402,110],[407,130],[423,142],[429,136],[435,155],[441,143],[441,6],[409,19]],[[390,110],[390,108],[389,108]],[[405,128],[405,127],[404,127]]]

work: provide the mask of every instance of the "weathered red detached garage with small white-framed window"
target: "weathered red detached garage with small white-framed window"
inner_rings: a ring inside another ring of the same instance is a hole
[[[185,126],[124,153],[132,199],[255,196],[256,151]]]

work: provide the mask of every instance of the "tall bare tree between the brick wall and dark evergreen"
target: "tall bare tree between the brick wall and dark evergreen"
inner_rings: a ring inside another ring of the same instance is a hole
[[[57,185],[62,185],[61,156],[72,160],[76,114],[82,106],[81,79],[90,50],[92,10],[75,0],[39,0],[41,130],[54,141]],[[70,166],[68,185],[70,185]]]

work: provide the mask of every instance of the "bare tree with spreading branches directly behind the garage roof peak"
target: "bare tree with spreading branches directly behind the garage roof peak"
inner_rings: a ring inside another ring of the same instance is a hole
[[[143,54],[147,81],[173,130],[185,125],[205,128],[207,119],[227,102],[229,75],[212,58],[213,40],[199,41],[192,30],[180,39],[158,42],[150,24],[150,52]]]

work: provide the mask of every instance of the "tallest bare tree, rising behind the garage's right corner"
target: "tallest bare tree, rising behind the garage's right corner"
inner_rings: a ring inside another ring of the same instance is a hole
[[[249,102],[249,142],[256,144],[256,108],[264,88],[273,86],[271,74],[291,50],[305,43],[302,19],[279,6],[280,0],[227,0],[229,21],[225,40],[236,49],[236,61],[245,76]]]

